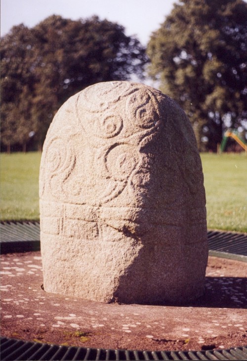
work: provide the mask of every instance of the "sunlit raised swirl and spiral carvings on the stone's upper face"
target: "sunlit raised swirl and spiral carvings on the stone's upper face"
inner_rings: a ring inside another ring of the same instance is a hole
[[[43,180],[54,198],[62,200],[72,194],[76,203],[105,203],[118,197],[129,178],[142,168],[145,155],[140,149],[159,128],[157,99],[151,90],[144,94],[140,92],[138,85],[133,87],[128,82],[110,84],[108,91],[99,84],[102,91],[97,89],[96,99],[93,99],[95,90],[92,87],[79,93],[76,99],[77,123],[82,130],[77,129],[74,138],[82,137],[83,149],[80,152],[74,149],[73,137],[68,136],[69,129],[60,129],[59,134],[46,139]],[[114,98],[120,89],[121,95]],[[115,111],[120,102],[122,116]],[[85,179],[88,166],[98,170],[99,177],[94,182],[88,183]],[[98,187],[99,182],[104,184],[103,192],[102,187]],[[60,183],[59,189],[55,183]],[[41,189],[44,187],[42,184]],[[98,188],[100,193],[97,193]]]

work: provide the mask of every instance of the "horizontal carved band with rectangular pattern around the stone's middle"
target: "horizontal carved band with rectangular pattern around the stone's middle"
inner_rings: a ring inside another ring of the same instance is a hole
[[[60,209],[60,211],[57,211]],[[80,213],[79,213],[80,210]],[[120,211],[120,213],[119,213]],[[129,218],[129,211],[135,211],[135,213],[140,215],[141,219],[138,221],[133,221]],[[176,213],[176,217],[174,217],[174,210],[171,208],[145,208],[145,207],[133,207],[133,206],[124,206],[124,207],[109,207],[109,206],[101,206],[94,207],[88,205],[81,204],[72,204],[72,203],[56,203],[56,202],[41,202],[41,219],[46,219],[45,224],[48,227],[43,227],[43,221],[41,222],[41,231],[43,233],[48,234],[56,234],[56,235],[64,235],[68,236],[69,233],[64,233],[64,222],[65,227],[69,220],[71,221],[82,221],[81,226],[84,223],[95,224],[97,228],[96,235],[99,235],[99,225],[98,220],[105,222],[108,224],[108,220],[111,220],[109,226],[112,227],[114,223],[114,219],[117,222],[124,221],[132,221],[133,224],[143,224],[149,223],[152,226],[180,226],[183,223],[184,219],[187,219],[187,222],[191,225],[197,225],[198,223],[204,223],[205,217],[205,208],[191,208],[191,209],[181,209]],[[121,214],[121,216],[119,215]],[[188,219],[188,214],[190,214],[190,218]],[[174,220],[176,219],[176,220]],[[59,221],[60,220],[60,221]],[[47,222],[48,221],[48,222]],[[59,224],[59,232],[57,232],[57,226]],[[75,223],[77,224],[77,223]],[[89,225],[89,228],[91,226]],[[94,227],[94,229],[95,229]],[[113,227],[114,228],[114,227]],[[117,227],[116,227],[117,228]]]

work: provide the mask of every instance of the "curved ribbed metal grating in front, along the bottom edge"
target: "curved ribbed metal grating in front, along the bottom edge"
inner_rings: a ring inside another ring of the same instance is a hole
[[[208,351],[103,350],[1,337],[1,360],[247,360],[247,348]]]

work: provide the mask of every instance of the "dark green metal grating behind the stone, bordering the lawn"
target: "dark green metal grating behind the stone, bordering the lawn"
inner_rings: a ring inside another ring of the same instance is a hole
[[[207,232],[209,255],[247,262],[247,234],[223,231]],[[0,222],[1,253],[40,250],[40,223],[32,221]]]

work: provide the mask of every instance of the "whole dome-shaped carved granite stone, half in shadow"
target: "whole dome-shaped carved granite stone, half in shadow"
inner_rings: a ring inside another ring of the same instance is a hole
[[[103,302],[202,295],[206,199],[185,113],[138,83],[71,97],[48,130],[40,171],[44,290]]]

